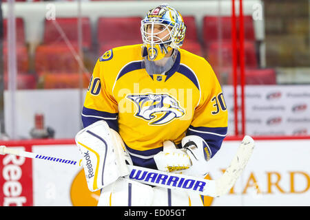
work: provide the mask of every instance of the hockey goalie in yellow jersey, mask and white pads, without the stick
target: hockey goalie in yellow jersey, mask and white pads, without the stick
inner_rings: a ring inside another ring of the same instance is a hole
[[[180,13],[159,5],[141,21],[142,44],[96,62],[76,144],[88,188],[101,190],[98,206],[203,206],[199,194],[124,177],[131,164],[203,178],[227,134],[216,74],[180,49],[185,32]]]

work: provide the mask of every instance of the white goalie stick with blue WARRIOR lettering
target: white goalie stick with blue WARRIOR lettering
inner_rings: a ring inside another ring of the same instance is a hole
[[[223,173],[223,175],[218,179],[214,180],[192,177],[173,172],[167,173],[160,170],[132,165],[127,165],[130,174],[125,177],[152,186],[160,186],[163,188],[183,190],[187,192],[196,192],[200,195],[209,197],[220,197],[225,195],[240,177],[242,171],[247,165],[247,162],[249,161],[249,158],[251,157],[254,150],[254,145],[254,140],[249,135],[245,135],[236,155],[231,160],[231,164],[225,170],[225,173]],[[81,160],[80,162],[76,162],[70,159],[61,159],[48,155],[39,155],[37,153],[19,151],[17,149],[7,148],[6,146],[0,146],[0,154],[19,155],[21,157],[45,159],[50,162],[81,166]]]

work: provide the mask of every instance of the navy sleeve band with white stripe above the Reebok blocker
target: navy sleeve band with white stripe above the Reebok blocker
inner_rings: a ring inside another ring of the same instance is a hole
[[[83,107],[82,111],[82,122],[83,126],[90,126],[94,122],[98,122],[99,120],[105,120],[111,129],[118,131],[118,113],[110,113],[107,111],[98,111],[95,109],[88,109]]]

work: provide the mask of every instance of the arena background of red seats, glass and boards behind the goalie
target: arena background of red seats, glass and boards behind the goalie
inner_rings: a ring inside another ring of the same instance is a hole
[[[161,3],[183,15],[183,49],[205,57],[223,88],[228,136],[208,178],[245,134],[256,140],[231,192],[205,206],[309,206],[306,0],[2,1],[0,145],[79,159],[74,136],[96,59],[141,43],[140,21]],[[1,206],[96,206],[81,168],[6,155],[0,170]]]

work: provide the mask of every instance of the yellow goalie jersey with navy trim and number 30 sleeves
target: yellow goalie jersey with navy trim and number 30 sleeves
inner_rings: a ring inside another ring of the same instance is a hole
[[[180,147],[185,135],[203,137],[207,159],[227,134],[227,107],[220,84],[204,58],[178,50],[165,74],[145,70],[142,45],[116,47],[101,56],[87,89],[83,126],[105,120],[118,131],[136,166],[156,168],[163,142]]]

